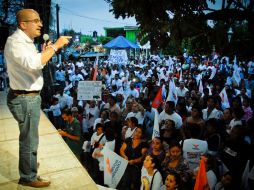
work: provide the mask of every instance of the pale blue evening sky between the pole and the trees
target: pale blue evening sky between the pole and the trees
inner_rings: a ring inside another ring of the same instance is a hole
[[[52,0],[52,3],[60,7],[60,32],[74,29],[82,34],[92,35],[97,31],[98,35],[105,35],[104,27],[136,26],[135,18],[115,19],[104,0]]]

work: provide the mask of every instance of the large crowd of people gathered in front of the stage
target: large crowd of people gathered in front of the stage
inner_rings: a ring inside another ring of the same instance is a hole
[[[128,160],[117,189],[193,189],[201,157],[210,189],[253,189],[254,59],[244,61],[187,54],[127,65],[100,59],[102,100],[83,101],[78,82],[92,80],[94,64],[67,60],[56,67],[60,88],[43,110],[98,184],[106,185],[107,147]],[[175,99],[168,97],[170,82]]]

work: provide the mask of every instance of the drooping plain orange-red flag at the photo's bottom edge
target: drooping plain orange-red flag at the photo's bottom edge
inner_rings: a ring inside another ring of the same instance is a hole
[[[196,177],[194,190],[210,190],[210,187],[208,185],[207,175],[206,175],[204,159],[200,160],[199,170],[198,170],[198,175]]]

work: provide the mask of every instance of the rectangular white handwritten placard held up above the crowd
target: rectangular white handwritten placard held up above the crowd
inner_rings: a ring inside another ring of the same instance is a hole
[[[101,81],[79,81],[78,100],[101,100]]]

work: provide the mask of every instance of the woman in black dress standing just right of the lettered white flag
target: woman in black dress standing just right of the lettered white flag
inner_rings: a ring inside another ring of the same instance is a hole
[[[120,181],[119,189],[138,189],[140,188],[140,170],[142,161],[147,153],[147,145],[142,140],[143,131],[137,127],[133,138],[128,138],[122,144],[120,156],[128,160],[128,166]]]

